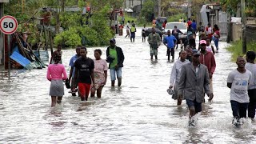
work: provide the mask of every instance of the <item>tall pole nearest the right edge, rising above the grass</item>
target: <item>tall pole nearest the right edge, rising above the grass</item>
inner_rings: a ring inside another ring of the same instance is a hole
[[[246,54],[246,2],[241,0],[241,15],[242,15],[242,53]]]

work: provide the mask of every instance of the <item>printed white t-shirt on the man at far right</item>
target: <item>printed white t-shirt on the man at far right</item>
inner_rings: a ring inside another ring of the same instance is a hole
[[[240,103],[249,102],[248,96],[248,83],[251,81],[251,73],[246,70],[245,73],[240,73],[238,70],[233,70],[227,77],[227,82],[232,83],[230,90],[230,101],[236,101]]]

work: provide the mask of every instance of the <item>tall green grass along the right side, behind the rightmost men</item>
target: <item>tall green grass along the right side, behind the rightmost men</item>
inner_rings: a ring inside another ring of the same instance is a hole
[[[232,46],[227,47],[226,49],[232,53],[232,61],[236,61],[238,56],[245,56],[246,54],[242,54],[242,40],[238,42],[232,42]],[[249,42],[246,44],[247,51],[251,50],[256,52],[256,42]]]

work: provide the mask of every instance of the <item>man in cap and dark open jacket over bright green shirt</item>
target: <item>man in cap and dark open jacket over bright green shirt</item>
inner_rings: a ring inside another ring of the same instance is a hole
[[[122,84],[122,67],[125,57],[122,48],[115,45],[115,39],[110,39],[110,46],[106,49],[106,62],[109,62],[111,86],[114,86],[116,75],[118,78],[118,86]]]

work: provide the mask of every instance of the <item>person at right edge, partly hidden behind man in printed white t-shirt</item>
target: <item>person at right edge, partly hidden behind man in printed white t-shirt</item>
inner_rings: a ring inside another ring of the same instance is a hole
[[[256,64],[255,61],[256,54],[254,51],[247,51],[246,53],[246,70],[250,70],[252,74],[252,81],[248,86],[248,95],[250,98],[248,106],[248,117],[254,120],[255,109],[256,109]]]

